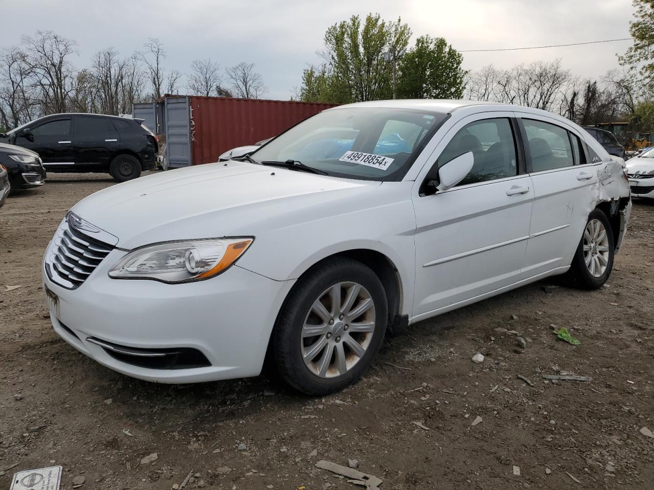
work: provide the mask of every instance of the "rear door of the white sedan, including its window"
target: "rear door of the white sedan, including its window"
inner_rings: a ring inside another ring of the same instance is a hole
[[[534,206],[525,255],[526,276],[570,265],[588,218],[595,164],[587,164],[572,127],[547,116],[517,113],[525,140]]]

